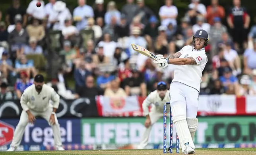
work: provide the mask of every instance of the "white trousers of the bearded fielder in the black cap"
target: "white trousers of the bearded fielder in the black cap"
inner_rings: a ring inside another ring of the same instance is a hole
[[[37,116],[43,117],[50,125],[49,120],[50,120],[50,115],[52,114],[52,108],[48,108],[45,112],[35,112],[33,110],[30,110],[30,112],[35,117]],[[16,126],[16,129],[14,131],[14,136],[12,138],[12,143],[11,143],[12,147],[17,147],[20,145],[28,121],[29,119],[28,119],[27,113],[25,111],[22,111],[20,115],[19,123]],[[56,115],[55,115],[55,124],[50,126],[52,127],[52,131],[54,134],[55,146],[62,147],[61,136],[60,136],[60,124],[58,123],[58,119]]]

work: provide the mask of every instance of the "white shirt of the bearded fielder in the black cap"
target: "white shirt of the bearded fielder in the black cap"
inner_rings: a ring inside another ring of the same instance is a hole
[[[52,105],[50,104],[50,100],[52,100]],[[20,103],[24,111],[45,112],[49,107],[58,108],[60,96],[52,87],[46,84],[43,84],[42,91],[38,93],[33,84],[25,89],[21,95]]]

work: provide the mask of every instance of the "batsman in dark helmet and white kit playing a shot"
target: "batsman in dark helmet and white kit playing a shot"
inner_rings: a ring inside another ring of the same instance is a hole
[[[198,127],[196,115],[202,71],[208,61],[204,47],[208,42],[208,33],[201,29],[193,35],[193,46],[184,46],[167,58],[157,55],[157,61],[154,60],[160,68],[166,68],[168,64],[176,65],[170,85],[170,105],[184,154],[195,153],[193,138]]]

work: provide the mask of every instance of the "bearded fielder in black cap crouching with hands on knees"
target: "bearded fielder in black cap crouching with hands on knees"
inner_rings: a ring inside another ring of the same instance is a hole
[[[50,100],[53,102],[52,105]],[[44,77],[41,74],[36,75],[34,84],[27,87],[21,96],[20,103],[23,111],[14,131],[12,143],[7,151],[16,151],[17,146],[21,143],[27,123],[34,123],[37,116],[46,119],[52,127],[56,150],[64,150],[60,137],[60,125],[55,114],[60,104],[59,101],[60,96],[54,89],[44,84]]]

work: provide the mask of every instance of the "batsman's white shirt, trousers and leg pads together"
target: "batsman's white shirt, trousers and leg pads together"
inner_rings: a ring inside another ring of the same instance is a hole
[[[182,151],[187,146],[195,149],[193,138],[198,127],[196,118],[202,71],[208,61],[205,49],[194,49],[187,45],[180,51],[180,58],[193,57],[197,65],[176,65],[174,79],[170,85],[170,104],[173,123],[179,136]],[[190,133],[190,134],[189,134]],[[191,136],[190,136],[191,135]]]

